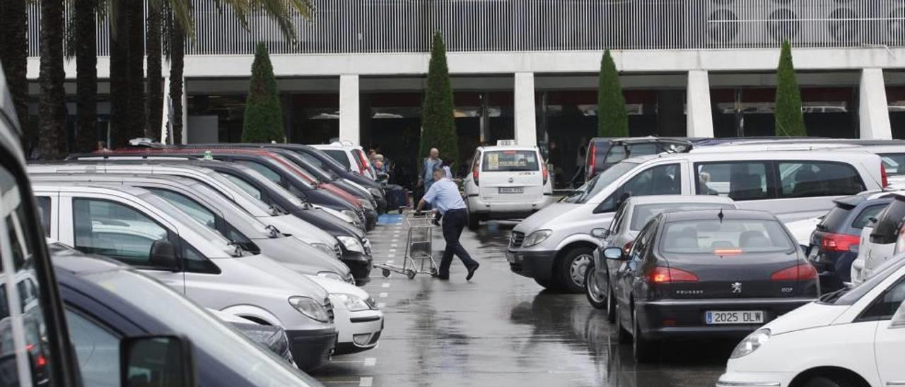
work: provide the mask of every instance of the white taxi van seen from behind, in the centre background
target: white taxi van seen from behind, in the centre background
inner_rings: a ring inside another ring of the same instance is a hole
[[[522,219],[553,203],[553,183],[537,146],[479,146],[465,178],[468,227]]]

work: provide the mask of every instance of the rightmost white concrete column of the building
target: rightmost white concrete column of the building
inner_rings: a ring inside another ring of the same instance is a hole
[[[858,117],[861,137],[865,139],[892,139],[889,102],[886,100],[886,84],[882,69],[861,71],[861,87],[858,95]]]

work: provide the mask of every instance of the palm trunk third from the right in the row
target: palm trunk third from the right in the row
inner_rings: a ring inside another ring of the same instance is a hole
[[[145,6],[129,0],[129,138],[144,137],[145,113]]]

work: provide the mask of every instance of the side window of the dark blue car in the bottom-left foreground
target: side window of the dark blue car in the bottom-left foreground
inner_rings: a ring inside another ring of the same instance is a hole
[[[69,307],[66,323],[85,385],[119,386],[120,335]]]

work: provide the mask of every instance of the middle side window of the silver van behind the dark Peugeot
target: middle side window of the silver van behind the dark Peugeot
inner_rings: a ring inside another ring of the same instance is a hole
[[[767,163],[696,163],[694,170],[696,194],[729,196],[735,201],[775,197]]]

